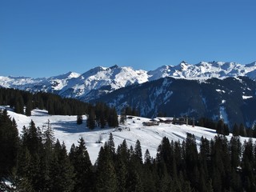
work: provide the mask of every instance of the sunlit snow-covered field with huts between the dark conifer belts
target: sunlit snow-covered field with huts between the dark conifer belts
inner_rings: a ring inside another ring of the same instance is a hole
[[[199,144],[202,136],[211,139],[216,135],[215,130],[199,126],[178,126],[165,123],[160,123],[159,126],[143,126],[142,122],[147,122],[150,119],[141,117],[127,118],[126,123],[120,125],[118,128],[95,128],[94,130],[89,130],[86,127],[86,116],[83,116],[82,125],[77,125],[77,116],[49,115],[46,110],[33,110],[32,115],[27,117],[26,115],[14,113],[6,106],[2,106],[1,108],[6,108],[10,117],[15,119],[20,134],[22,133],[22,127],[29,126],[31,120],[40,128],[46,126],[46,122],[49,120],[50,126],[54,129],[55,139],[58,138],[60,142],[65,142],[68,151],[73,143],[76,146],[78,145],[79,138],[84,138],[92,163],[98,158],[98,151],[100,147],[104,145],[104,142],[108,140],[110,133],[113,134],[116,148],[124,139],[126,139],[129,147],[134,146],[135,142],[139,140],[142,146],[142,154],[148,149],[151,157],[154,158],[158,146],[165,136],[169,138],[170,141],[179,140],[182,142],[182,140],[186,138],[186,133],[191,133],[194,134]],[[231,136],[230,134],[227,138],[229,139]],[[248,138],[240,138],[241,142],[245,139]]]

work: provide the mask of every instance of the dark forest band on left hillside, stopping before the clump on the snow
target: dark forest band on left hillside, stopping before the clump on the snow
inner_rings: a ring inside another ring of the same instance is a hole
[[[31,115],[31,110],[48,110],[48,114],[86,114],[90,104],[72,98],[61,98],[56,94],[30,93],[24,90],[0,88],[0,105],[14,108],[18,114]],[[24,110],[26,109],[26,110]]]

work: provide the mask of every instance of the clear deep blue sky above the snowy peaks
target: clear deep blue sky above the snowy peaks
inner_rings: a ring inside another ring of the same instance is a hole
[[[256,61],[254,0],[1,0],[0,76]]]

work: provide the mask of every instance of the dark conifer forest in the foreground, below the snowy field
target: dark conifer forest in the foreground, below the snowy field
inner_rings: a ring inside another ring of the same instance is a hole
[[[34,122],[18,137],[16,122],[6,110],[0,114],[0,190],[10,191],[255,191],[256,144],[239,137],[227,140],[193,134],[182,142],[162,138],[156,158],[133,146],[114,145],[113,135],[93,165],[80,138],[66,150],[55,142],[50,122]],[[143,158],[144,157],[144,158]],[[9,181],[13,186],[7,185]]]

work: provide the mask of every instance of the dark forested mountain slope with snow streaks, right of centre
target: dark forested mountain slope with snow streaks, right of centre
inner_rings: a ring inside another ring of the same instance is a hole
[[[256,121],[256,83],[247,77],[209,78],[204,81],[161,78],[141,85],[127,86],[94,100],[139,110],[144,117],[159,112],[167,116],[188,115],[194,118],[224,118],[230,126]]]

